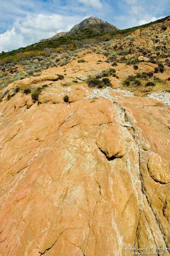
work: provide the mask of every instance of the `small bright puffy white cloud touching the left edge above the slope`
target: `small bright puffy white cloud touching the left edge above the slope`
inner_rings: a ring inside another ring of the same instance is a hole
[[[17,34],[14,27],[0,34],[0,52],[7,52],[9,49],[17,49],[23,46],[23,35]]]

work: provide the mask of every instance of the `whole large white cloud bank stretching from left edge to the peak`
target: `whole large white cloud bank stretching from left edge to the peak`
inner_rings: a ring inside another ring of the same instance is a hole
[[[56,14],[17,18],[11,30],[0,34],[0,52],[25,47],[43,38],[50,38],[58,32],[69,31],[78,20],[80,17]]]

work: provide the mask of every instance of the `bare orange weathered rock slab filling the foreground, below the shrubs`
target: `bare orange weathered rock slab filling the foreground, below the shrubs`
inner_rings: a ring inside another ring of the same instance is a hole
[[[39,105],[0,103],[0,256],[170,247],[170,107],[92,93],[52,81]]]

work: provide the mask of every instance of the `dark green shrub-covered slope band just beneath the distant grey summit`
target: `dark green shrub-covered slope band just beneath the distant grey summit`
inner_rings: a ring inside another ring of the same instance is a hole
[[[168,16],[169,17],[169,16]],[[78,35],[65,35],[62,37],[59,37],[54,40],[43,40],[40,41],[39,43],[35,43],[32,45],[29,45],[27,47],[21,47],[20,49],[13,50],[10,52],[3,52],[0,54],[0,64],[5,63],[6,61],[20,61],[22,59],[27,59],[30,54],[35,54],[35,55],[41,55],[45,54],[44,49],[46,48],[52,48],[56,52],[61,52],[64,50],[75,50],[80,47],[80,42],[81,44],[86,44],[86,40],[91,39],[93,42],[97,40],[102,41],[105,40],[105,36],[107,35],[107,40],[111,39],[112,36],[116,38],[120,38],[124,35],[129,35],[131,32],[135,31],[138,28],[145,28],[147,26],[151,26],[156,23],[162,23],[164,20],[166,20],[168,17],[156,20],[154,22],[142,25],[142,26],[136,26],[130,29],[122,29],[122,30],[115,30],[113,29],[112,31],[100,31],[96,32],[94,29],[92,29],[91,26],[85,27],[85,28],[79,28],[79,34]]]

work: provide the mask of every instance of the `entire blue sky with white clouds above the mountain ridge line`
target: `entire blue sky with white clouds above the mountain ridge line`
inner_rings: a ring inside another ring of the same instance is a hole
[[[94,16],[119,29],[170,15],[170,0],[0,0],[0,52],[69,31]]]

